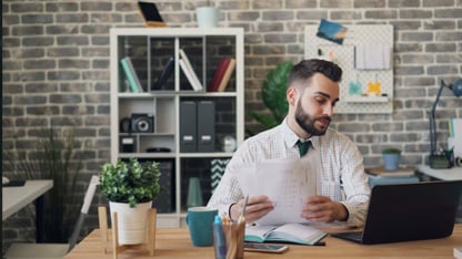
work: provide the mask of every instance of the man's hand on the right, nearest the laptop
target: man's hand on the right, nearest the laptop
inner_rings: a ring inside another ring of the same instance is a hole
[[[302,217],[310,221],[345,221],[348,210],[342,204],[333,201],[330,197],[318,195],[307,199]]]

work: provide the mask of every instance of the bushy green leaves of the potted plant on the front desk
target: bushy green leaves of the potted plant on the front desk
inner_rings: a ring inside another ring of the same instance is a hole
[[[159,163],[140,163],[132,157],[128,163],[119,159],[116,165],[106,163],[100,174],[100,190],[110,201],[128,203],[135,207],[138,203],[151,201],[160,194]]]

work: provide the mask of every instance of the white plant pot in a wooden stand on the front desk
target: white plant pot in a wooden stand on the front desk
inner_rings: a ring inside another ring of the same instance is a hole
[[[120,245],[139,245],[144,242],[148,228],[148,213],[151,204],[151,201],[148,201],[130,208],[129,204],[109,201],[111,218],[113,213],[117,213]]]

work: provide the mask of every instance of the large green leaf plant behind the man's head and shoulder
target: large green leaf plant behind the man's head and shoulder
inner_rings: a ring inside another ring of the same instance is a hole
[[[280,63],[268,73],[267,79],[262,83],[262,100],[270,114],[255,111],[249,112],[249,115],[263,125],[265,130],[280,124],[288,113],[289,104],[285,99],[285,91],[289,72],[292,66],[292,61]],[[254,135],[249,130],[247,132],[249,135]]]

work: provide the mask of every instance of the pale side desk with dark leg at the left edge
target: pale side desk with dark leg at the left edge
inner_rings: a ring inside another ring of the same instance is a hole
[[[43,240],[43,197],[53,187],[53,180],[27,180],[23,186],[2,187],[2,221],[28,204],[36,203],[36,239]]]

